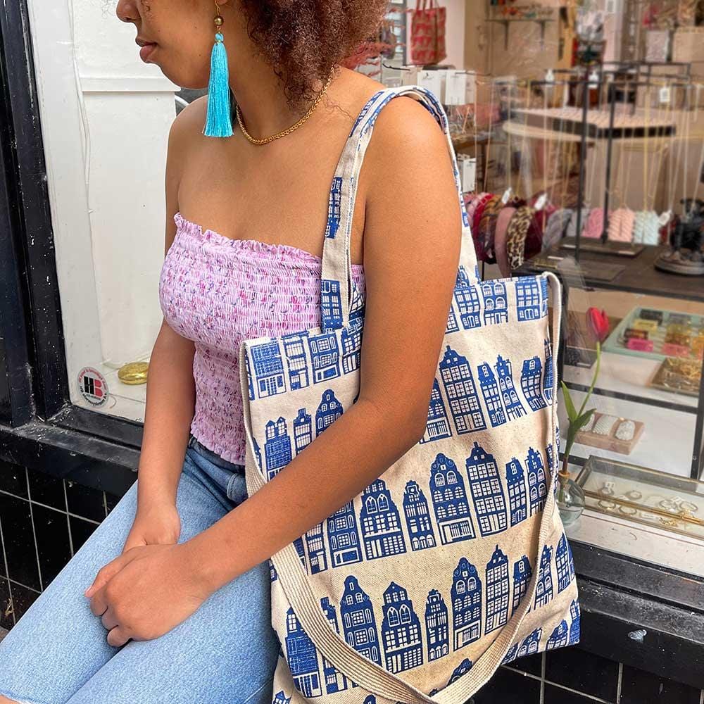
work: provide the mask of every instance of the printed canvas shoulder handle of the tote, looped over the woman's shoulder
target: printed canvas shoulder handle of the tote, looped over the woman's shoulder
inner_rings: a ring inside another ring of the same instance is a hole
[[[349,322],[353,291],[350,237],[359,172],[379,111],[386,103],[399,95],[411,95],[420,99],[422,105],[437,120],[445,134],[462,214],[460,265],[463,265],[470,283],[479,279],[477,255],[474,252],[470,220],[467,217],[462,184],[460,183],[460,170],[452,144],[447,115],[442,104],[431,91],[417,85],[382,89],[375,93],[360,111],[342,150],[332,179],[320,275],[320,327],[322,332],[345,327]]]

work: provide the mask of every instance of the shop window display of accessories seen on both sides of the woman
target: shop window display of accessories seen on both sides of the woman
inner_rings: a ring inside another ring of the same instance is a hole
[[[685,570],[653,547],[686,534],[704,564],[704,25],[682,5],[394,0],[349,65],[443,103],[482,278],[565,284],[560,382],[593,410],[567,458],[586,496],[572,536]],[[113,18],[74,10],[70,72],[49,42],[36,51],[71,401],[140,423],[168,127],[201,93],[116,61],[130,42]],[[37,13],[38,37],[49,21]],[[562,453],[562,391],[558,406]],[[634,524],[645,541],[624,539]]]

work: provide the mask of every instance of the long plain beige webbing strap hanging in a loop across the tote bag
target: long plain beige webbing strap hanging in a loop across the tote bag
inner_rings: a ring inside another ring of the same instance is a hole
[[[470,243],[471,244],[471,243]],[[544,272],[540,277],[549,286],[551,301],[553,305],[553,321],[551,330],[551,350],[553,369],[553,393],[551,402],[551,438],[553,447],[558,423],[558,342],[560,339],[560,320],[562,317],[562,294],[560,281],[552,272]],[[541,286],[542,288],[542,286]],[[246,368],[246,348],[242,344],[240,347],[240,368]],[[258,467],[254,459],[256,453],[249,430],[251,424],[249,409],[249,389],[247,385],[247,375],[241,374],[242,397],[244,398],[244,420],[246,428],[246,453],[247,462],[251,467]],[[553,524],[553,514],[555,510],[555,481],[558,473],[559,448],[555,447],[552,453],[552,466],[549,472],[546,504],[541,516],[538,549],[534,565],[538,564],[543,547]],[[246,472],[246,482],[248,494],[255,493],[265,485],[264,478],[258,470]],[[392,701],[403,702],[405,704],[465,704],[472,694],[479,689],[492,674],[496,671],[508,649],[519,632],[525,615],[531,608],[535,599],[538,586],[539,570],[534,569],[527,592],[523,597],[517,610],[508,623],[501,629],[496,640],[486,648],[484,653],[477,659],[472,669],[463,674],[462,677],[449,684],[444,689],[429,696],[415,688],[408,682],[403,681],[395,674],[384,670],[375,662],[360,655],[354,648],[349,646],[344,638],[335,631],[327,620],[325,612],[320,607],[320,601],[313,593],[313,589],[308,582],[306,570],[301,565],[298,551],[294,543],[289,543],[271,558],[275,570],[277,571],[279,584],[284,590],[291,607],[296,613],[298,621],[306,631],[310,639],[315,643],[316,648],[322,655],[332,662],[341,672],[344,672],[353,682],[363,686],[368,691],[377,696],[383,696]]]

